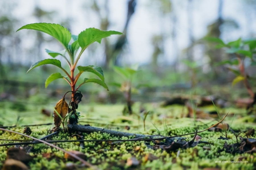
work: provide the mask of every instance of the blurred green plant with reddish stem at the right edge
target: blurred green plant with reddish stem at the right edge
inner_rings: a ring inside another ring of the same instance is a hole
[[[216,63],[216,65],[218,66],[228,64],[232,66],[228,67],[228,69],[236,75],[236,78],[234,78],[232,82],[232,86],[240,81],[243,81],[247,92],[252,98],[254,98],[255,94],[253,93],[249,84],[248,79],[250,77],[245,71],[244,61],[245,59],[248,59],[251,62],[250,65],[256,65],[255,58],[253,58],[253,54],[256,52],[256,39],[242,41],[241,38],[239,38],[236,41],[231,41],[228,43],[224,43],[221,39],[216,37],[206,37],[205,40],[217,43],[216,48],[225,48],[225,52],[228,54],[234,54],[233,56],[235,56],[235,58],[233,57],[227,60],[223,60]]]

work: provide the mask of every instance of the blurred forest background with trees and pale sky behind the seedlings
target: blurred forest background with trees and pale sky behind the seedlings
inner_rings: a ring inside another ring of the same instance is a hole
[[[191,90],[223,99],[249,97],[242,83],[231,87],[234,73],[216,64],[232,54],[216,49],[204,37],[224,42],[254,38],[255,0],[9,0],[0,5],[0,101],[44,103],[69,90],[63,80],[44,88],[46,78],[57,70],[54,66],[26,74],[30,65],[50,58],[45,48],[62,50],[57,41],[39,31],[15,32],[36,22],[60,24],[75,35],[88,27],[124,33],[92,44],[81,57],[81,65],[103,67],[110,87],[110,92],[94,84],[82,87],[83,102],[123,101],[115,86],[123,80],[113,66],[136,64],[134,101],[160,101],[174,94],[191,94]],[[248,75],[255,76],[250,61],[245,66]]]

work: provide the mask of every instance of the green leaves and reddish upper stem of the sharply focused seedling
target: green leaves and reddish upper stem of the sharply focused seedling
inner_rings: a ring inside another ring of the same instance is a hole
[[[122,33],[117,32],[117,31],[102,31],[96,28],[87,28],[86,30],[80,32],[79,35],[72,35],[70,31],[59,25],[59,24],[51,24],[51,23],[34,23],[34,24],[28,24],[24,25],[17,31],[21,29],[32,29],[32,30],[37,30],[41,31],[44,33],[47,33],[57,39],[63,46],[63,50],[56,52],[52,50],[46,49],[46,52],[52,57],[55,58],[57,56],[62,56],[68,63],[70,67],[71,74],[69,74],[62,66],[61,62],[58,59],[44,59],[42,61],[38,61],[35,64],[33,64],[30,69],[27,71],[27,73],[34,68],[40,66],[40,65],[45,65],[45,64],[52,64],[57,67],[59,67],[67,76],[61,75],[61,73],[53,73],[51,74],[46,82],[45,82],[45,87],[53,81],[58,78],[63,78],[65,79],[69,85],[75,86],[79,76],[83,72],[91,72],[97,75],[100,79],[89,79],[85,78],[82,84],[88,83],[88,82],[94,82],[97,84],[100,84],[104,88],[108,90],[108,86],[104,82],[104,74],[102,71],[101,67],[98,66],[93,66],[93,65],[88,65],[88,66],[78,66],[77,69],[79,70],[79,73],[74,76],[74,70],[76,68],[77,62],[80,59],[82,53],[84,50],[93,42],[101,42],[102,38],[109,37],[110,35],[121,35]],[[72,39],[72,40],[71,40]],[[80,52],[79,52],[79,49]],[[76,57],[77,53],[79,52],[78,56]],[[67,53],[67,56],[66,56]],[[69,58],[69,59],[68,59]],[[80,84],[79,87],[82,85]],[[78,88],[79,88],[78,87]],[[77,88],[77,89],[78,89]],[[76,90],[77,90],[76,89]]]

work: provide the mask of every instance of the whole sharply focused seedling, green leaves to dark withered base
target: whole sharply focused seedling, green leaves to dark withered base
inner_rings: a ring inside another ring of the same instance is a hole
[[[53,81],[58,78],[63,78],[67,81],[69,86],[71,87],[71,102],[69,105],[67,105],[67,102],[65,101],[65,95],[64,97],[56,104],[55,110],[59,112],[59,115],[64,118],[66,114],[71,112],[69,116],[69,124],[77,124],[78,123],[78,112],[76,109],[78,108],[78,103],[81,101],[82,94],[78,89],[85,83],[88,82],[94,82],[97,83],[104,88],[108,90],[108,86],[106,85],[104,81],[104,74],[101,67],[94,66],[94,65],[88,65],[88,66],[77,66],[77,63],[82,56],[84,50],[93,42],[101,42],[102,38],[109,37],[110,35],[121,35],[122,33],[117,31],[102,31],[96,28],[87,28],[84,31],[80,32],[79,35],[72,35],[67,28],[64,28],[63,26],[59,24],[50,24],[50,23],[34,23],[34,24],[28,24],[17,31],[21,29],[33,29],[37,31],[41,31],[44,33],[47,33],[57,39],[62,45],[64,50],[61,50],[59,52],[51,51],[46,49],[46,52],[53,58],[57,56],[62,56],[69,65],[69,73],[67,70],[65,70],[61,66],[61,62],[57,59],[44,59],[42,61],[38,61],[37,63],[33,64],[30,69],[27,71],[30,72],[34,68],[45,65],[45,64],[52,64],[57,67],[59,67],[66,76],[61,75],[61,73],[53,73],[51,74],[46,82],[45,87]],[[73,41],[71,41],[71,38]],[[79,49],[80,52],[79,52]],[[79,53],[78,53],[79,52]],[[66,56],[67,53],[67,56]],[[78,56],[76,57],[76,54],[78,53]],[[68,59],[69,58],[69,59]],[[79,73],[77,75],[74,74],[75,69],[78,69]],[[84,72],[91,72],[95,75],[97,75],[100,79],[96,78],[84,78],[83,82],[76,86],[77,80],[79,79],[80,75]],[[57,115],[57,112],[55,113],[55,119],[57,122],[60,122],[59,116]],[[55,121],[55,120],[54,120]],[[56,123],[55,123],[56,126]],[[57,126],[60,126],[59,123],[57,123]],[[59,128],[59,127],[55,128]]]

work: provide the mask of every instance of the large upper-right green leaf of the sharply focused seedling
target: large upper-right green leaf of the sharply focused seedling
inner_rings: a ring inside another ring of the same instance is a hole
[[[87,28],[78,35],[78,43],[84,51],[90,44],[97,41],[100,43],[102,38],[110,35],[122,35],[123,33],[117,31],[102,31],[96,28]]]

